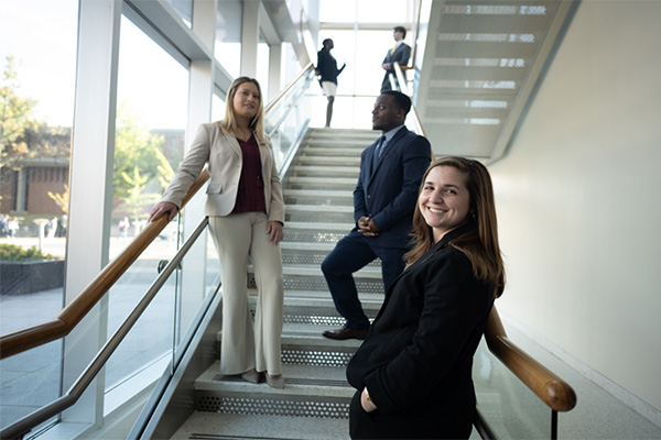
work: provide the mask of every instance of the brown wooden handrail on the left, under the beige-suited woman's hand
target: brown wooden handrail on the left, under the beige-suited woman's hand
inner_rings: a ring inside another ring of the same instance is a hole
[[[208,178],[209,174],[205,168],[193,186],[191,186],[191,189],[188,189],[182,202],[182,208],[202,188]],[[22,353],[67,336],[133,262],[138,260],[142,251],[159,237],[159,233],[161,233],[167,223],[167,216],[148,223],[127,249],[110,262],[52,321],[2,336],[0,338],[0,359]]]

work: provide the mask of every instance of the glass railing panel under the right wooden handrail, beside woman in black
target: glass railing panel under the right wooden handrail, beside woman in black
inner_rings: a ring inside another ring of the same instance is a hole
[[[552,410],[480,342],[473,365],[477,407],[497,438],[551,438]]]

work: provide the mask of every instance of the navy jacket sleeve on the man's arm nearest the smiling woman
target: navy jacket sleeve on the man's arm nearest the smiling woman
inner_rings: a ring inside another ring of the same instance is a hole
[[[380,231],[388,231],[393,224],[411,215],[418,200],[420,182],[431,161],[430,142],[420,135],[407,145],[402,153],[403,185],[392,201],[373,215],[372,221]]]

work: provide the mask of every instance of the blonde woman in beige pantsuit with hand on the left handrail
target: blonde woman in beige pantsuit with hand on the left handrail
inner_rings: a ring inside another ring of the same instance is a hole
[[[205,164],[212,176],[205,212],[218,249],[223,282],[220,372],[248,382],[266,377],[283,387],[282,186],[263,129],[257,80],[240,77],[227,95],[224,120],[202,124],[150,221],[172,219]],[[254,322],[248,307],[246,263],[251,257],[258,286]]]

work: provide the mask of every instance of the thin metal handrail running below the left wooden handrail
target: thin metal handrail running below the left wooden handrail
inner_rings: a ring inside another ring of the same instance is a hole
[[[18,437],[24,436],[29,432],[34,426],[47,420],[48,418],[55,416],[58,413],[69,408],[75,405],[75,403],[80,398],[87,386],[95,380],[96,375],[101,371],[101,369],[106,365],[106,362],[115,350],[119,346],[123,338],[128,334],[131,328],[136,324],[138,319],[142,316],[147,307],[150,305],[152,299],[158,295],[159,290],[163,287],[163,285],[167,282],[167,278],[174,273],[174,271],[178,267],[182,260],[186,255],[186,253],[191,250],[193,244],[197,241],[199,235],[204,232],[205,228],[208,224],[208,218],[204,218],[195,231],[191,234],[188,240],[182,245],[182,248],[174,255],[172,261],[167,263],[163,272],[159,274],[156,279],[152,283],[149,290],[143,295],[142,299],[136,308],[131,311],[129,317],[123,321],[123,323],[115,331],[112,337],[106,342],[104,348],[97,353],[95,359],[87,365],[85,371],[78,376],[78,378],[73,383],[69,389],[59,398],[52,402],[51,404],[37,409],[36,411],[25,416],[21,420],[17,421],[13,425],[10,425],[6,429],[0,432],[0,438],[3,439],[13,439]]]

